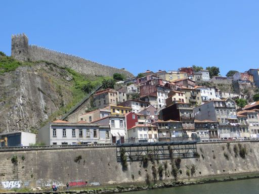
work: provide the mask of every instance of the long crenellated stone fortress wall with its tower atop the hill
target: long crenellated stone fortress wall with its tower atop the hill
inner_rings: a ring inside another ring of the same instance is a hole
[[[102,65],[83,58],[68,55],[44,47],[29,45],[25,34],[12,36],[12,56],[21,61],[48,61],[61,67],[71,68],[79,73],[113,76],[114,73],[121,73],[126,77],[134,75],[126,70]]]

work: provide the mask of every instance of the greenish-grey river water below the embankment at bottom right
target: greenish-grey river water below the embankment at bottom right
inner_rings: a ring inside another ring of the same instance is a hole
[[[127,194],[255,194],[259,178],[126,192]]]

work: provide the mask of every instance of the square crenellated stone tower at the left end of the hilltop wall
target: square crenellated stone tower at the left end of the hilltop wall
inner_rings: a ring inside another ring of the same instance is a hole
[[[29,42],[28,37],[24,33],[12,35],[11,55],[19,61],[28,61]]]

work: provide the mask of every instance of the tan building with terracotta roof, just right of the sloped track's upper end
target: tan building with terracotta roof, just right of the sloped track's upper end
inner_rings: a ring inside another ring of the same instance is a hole
[[[93,95],[94,107],[103,109],[109,106],[117,105],[117,92],[115,89],[103,89]]]

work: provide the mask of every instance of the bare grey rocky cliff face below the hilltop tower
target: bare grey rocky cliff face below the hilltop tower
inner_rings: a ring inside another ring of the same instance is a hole
[[[0,74],[0,83],[0,133],[35,131],[73,96],[71,74],[46,63]]]

